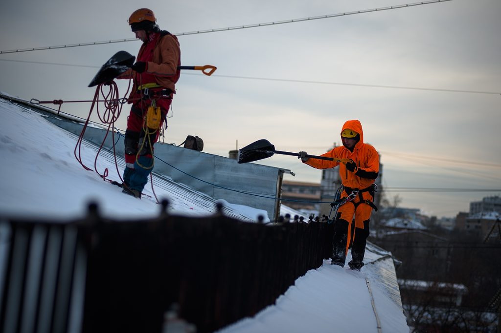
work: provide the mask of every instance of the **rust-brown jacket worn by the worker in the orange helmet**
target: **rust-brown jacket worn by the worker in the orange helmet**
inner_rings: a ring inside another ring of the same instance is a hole
[[[181,64],[181,50],[177,37],[166,31],[160,32],[161,36],[158,38],[157,45],[153,48],[153,61],[148,61],[146,72],[155,75],[156,82],[175,93],[175,83],[179,79],[180,71],[177,66]],[[146,44],[143,43],[139,48],[138,54],[141,54]],[[129,78],[132,69],[118,76],[117,78]],[[129,98],[137,91],[137,82],[134,80],[134,85]]]

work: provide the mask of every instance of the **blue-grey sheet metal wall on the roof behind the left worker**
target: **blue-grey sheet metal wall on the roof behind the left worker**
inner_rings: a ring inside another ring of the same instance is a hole
[[[55,115],[48,119],[76,135],[80,135],[83,128],[81,123]],[[84,138],[100,146],[105,133],[104,129],[87,127]],[[123,156],[123,135],[115,134],[115,140],[115,151]],[[104,147],[112,146],[113,140],[109,134]],[[238,164],[232,158],[172,144],[156,143],[155,156],[157,158],[154,173],[169,176],[174,181],[186,184],[214,199],[264,209],[270,220],[275,220],[279,215],[280,201],[274,198],[279,198],[277,185],[281,183],[284,172],[291,172],[288,169],[256,163]]]

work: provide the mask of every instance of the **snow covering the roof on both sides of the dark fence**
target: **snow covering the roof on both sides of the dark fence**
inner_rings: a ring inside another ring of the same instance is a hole
[[[153,177],[155,193],[148,183],[144,190],[148,196],[125,195],[94,170],[97,146],[82,143],[82,161],[92,169],[86,170],[74,156],[76,135],[46,121],[31,107],[4,98],[0,98],[0,114],[4,160],[0,163],[0,191],[4,193],[0,220],[2,216],[77,218],[86,214],[90,200],[99,203],[105,217],[154,217],[160,209],[155,195],[169,199],[171,213],[206,216],[216,211],[216,200],[210,196],[161,175]],[[95,169],[100,173],[108,169],[109,177],[117,180],[112,176],[115,163],[111,153],[101,151],[100,156]],[[117,162],[121,171],[124,161],[117,157]],[[224,202],[224,207],[224,214],[240,220],[256,220],[263,213],[230,202]],[[347,262],[350,259],[348,253]],[[391,253],[368,243],[364,263],[357,272],[347,264],[343,268],[325,260],[323,266],[299,277],[275,305],[221,331],[408,331]]]

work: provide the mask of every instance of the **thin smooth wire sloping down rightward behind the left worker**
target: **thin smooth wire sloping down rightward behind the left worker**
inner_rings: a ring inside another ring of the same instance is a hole
[[[14,60],[14,59],[0,59],[0,61],[13,61],[13,62],[38,63],[38,64],[50,64],[50,65],[61,65],[61,66],[100,68],[99,66],[81,65],[81,64],[70,64],[70,63],[58,63],[58,62],[27,61],[27,60]],[[183,73],[183,75],[202,75],[202,74]],[[297,80],[297,79],[286,79],[286,78],[236,76],[236,75],[219,75],[219,74],[213,74],[212,76],[227,77],[227,78],[240,78],[240,79],[252,79],[252,80],[265,80],[265,81],[278,81],[278,82],[334,84],[334,85],[362,86],[362,87],[372,87],[372,88],[412,89],[412,90],[445,91],[445,92],[461,92],[461,93],[483,93],[483,94],[501,95],[501,92],[478,91],[478,90],[423,88],[423,87],[410,87],[410,86],[398,86],[398,85],[363,84],[363,83],[347,83],[347,82],[329,82],[329,81]],[[493,165],[494,166],[501,166],[501,165],[495,165],[495,164],[493,164]]]

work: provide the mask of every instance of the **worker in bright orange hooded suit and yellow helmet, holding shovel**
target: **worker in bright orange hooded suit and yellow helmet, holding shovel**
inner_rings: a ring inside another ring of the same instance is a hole
[[[379,154],[376,149],[364,143],[364,133],[359,120],[348,120],[341,129],[342,146],[334,147],[322,156],[332,157],[333,161],[308,158],[306,151],[299,152],[303,163],[317,169],[326,169],[339,165],[339,176],[342,182],[340,202],[353,198],[339,206],[334,216],[332,264],[344,266],[351,239],[351,224],[355,216],[355,233],[352,243],[352,260],[348,262],[351,269],[359,270],[364,265],[363,259],[367,237],[369,236],[369,220],[374,205],[374,181],[379,174]],[[346,159],[345,162],[338,160]],[[351,195],[350,195],[351,194]]]

